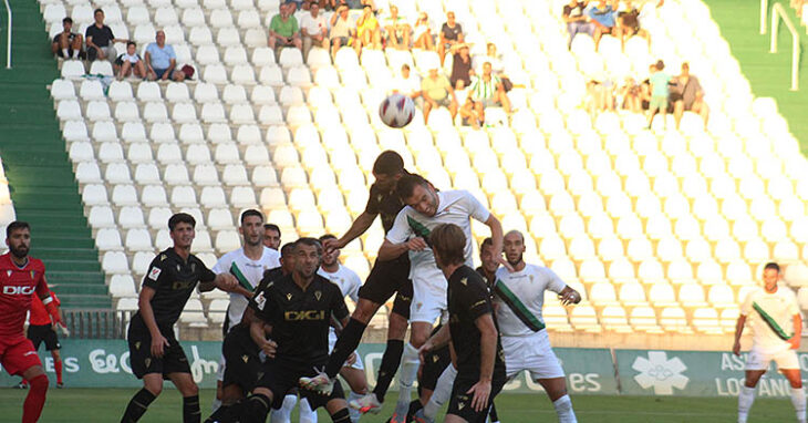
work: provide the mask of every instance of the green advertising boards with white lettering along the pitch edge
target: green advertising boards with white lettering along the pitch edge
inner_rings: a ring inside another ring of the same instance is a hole
[[[70,388],[135,388],[128,349],[121,340],[73,340],[62,343],[64,381]],[[194,379],[201,388],[216,386],[220,342],[185,342]],[[384,351],[382,343],[360,345],[367,381],[375,384],[375,374]],[[609,350],[556,348],[567,372],[567,386],[576,395],[678,395],[736,396],[743,385],[745,354],[729,352],[674,350]],[[53,373],[53,361],[40,354],[45,370]],[[808,352],[799,353],[800,367],[808,371]],[[51,375],[52,378],[52,375]],[[6,372],[0,385],[12,385],[17,378]],[[393,384],[393,389],[397,383]],[[787,396],[788,382],[776,372],[760,381],[759,396]],[[514,393],[540,392],[541,386],[525,373],[505,386]]]

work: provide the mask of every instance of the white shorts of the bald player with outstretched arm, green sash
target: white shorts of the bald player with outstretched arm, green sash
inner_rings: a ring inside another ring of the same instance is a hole
[[[505,372],[508,379],[522,370],[530,372],[532,380],[563,378],[563,369],[552,352],[546,330],[527,337],[501,338],[505,351]]]

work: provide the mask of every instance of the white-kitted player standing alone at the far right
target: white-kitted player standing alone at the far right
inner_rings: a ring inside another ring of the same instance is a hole
[[[763,288],[749,292],[740,305],[733,353],[740,355],[740,334],[747,319],[753,338],[752,350],[746,357],[746,381],[738,395],[739,423],[746,423],[755,401],[757,382],[771,361],[791,384],[791,403],[797,411],[797,421],[806,421],[805,391],[796,352],[802,336],[802,317],[794,292],[787,287],[778,287],[779,280],[780,267],[776,262],[767,264],[763,271]]]

